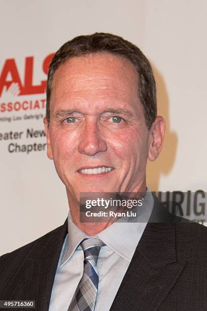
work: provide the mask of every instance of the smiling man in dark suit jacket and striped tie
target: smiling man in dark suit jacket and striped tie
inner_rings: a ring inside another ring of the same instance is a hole
[[[183,224],[146,189],[165,123],[140,49],[102,33],[66,42],[50,65],[44,122],[70,212],[1,257],[0,299],[50,311],[207,310],[206,228]],[[80,194],[94,192],[142,193],[147,216],[83,222]]]

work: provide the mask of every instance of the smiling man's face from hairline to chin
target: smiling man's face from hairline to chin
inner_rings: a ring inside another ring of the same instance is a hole
[[[56,70],[48,157],[72,199],[135,192],[145,183],[150,133],[137,85],[133,65],[107,53],[74,57]]]

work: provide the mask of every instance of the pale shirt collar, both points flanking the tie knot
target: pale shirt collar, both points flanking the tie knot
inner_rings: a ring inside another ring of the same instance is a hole
[[[105,230],[99,232],[96,236],[119,256],[130,262],[135,252],[137,243],[145,230],[153,209],[153,205],[154,199],[152,193],[149,188],[147,188],[147,195],[145,196],[142,205],[143,212],[136,222],[134,222],[133,219],[128,219],[127,222],[122,222],[122,219],[119,219]],[[70,211],[68,213],[67,220],[68,234],[65,238],[60,266],[63,266],[68,260],[70,260],[76,248],[85,237],[90,237],[74,224]]]

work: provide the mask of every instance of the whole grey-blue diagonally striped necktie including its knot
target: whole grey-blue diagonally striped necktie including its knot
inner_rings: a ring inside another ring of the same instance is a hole
[[[84,251],[83,276],[67,311],[94,311],[98,291],[97,259],[101,246],[98,237],[85,238],[81,242]]]

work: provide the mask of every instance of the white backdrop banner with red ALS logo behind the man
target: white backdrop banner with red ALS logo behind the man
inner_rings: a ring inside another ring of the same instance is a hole
[[[0,255],[67,216],[64,185],[46,154],[47,73],[65,41],[94,32],[124,37],[151,61],[167,128],[147,184],[162,201],[177,198],[178,214],[205,224],[206,13],[201,0],[0,1]]]

